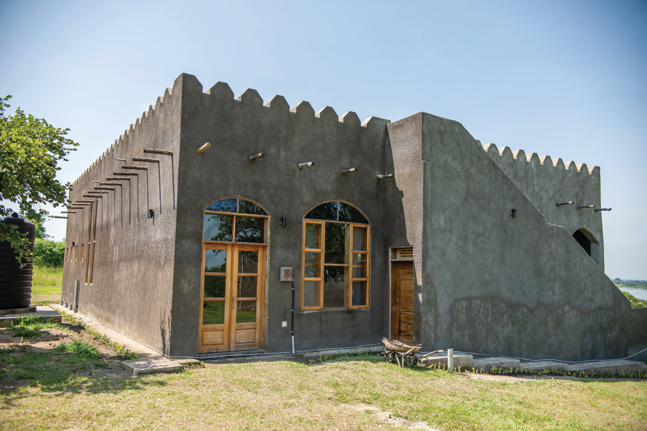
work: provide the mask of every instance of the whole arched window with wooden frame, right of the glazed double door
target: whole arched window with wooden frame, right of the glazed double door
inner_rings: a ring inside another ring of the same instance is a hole
[[[366,217],[351,204],[325,202],[306,214],[302,309],[369,306],[369,238]]]

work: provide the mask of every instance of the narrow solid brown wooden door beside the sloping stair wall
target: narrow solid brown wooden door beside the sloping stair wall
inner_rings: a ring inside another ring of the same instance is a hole
[[[391,263],[391,338],[413,344],[413,262]]]

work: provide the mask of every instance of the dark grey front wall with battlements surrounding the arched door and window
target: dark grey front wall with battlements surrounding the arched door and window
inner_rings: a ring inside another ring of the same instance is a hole
[[[388,256],[384,238],[384,135],[386,120],[364,125],[353,112],[341,118],[333,108],[318,113],[308,102],[290,109],[283,96],[263,105],[256,90],[238,98],[226,83],[203,93],[195,76],[183,74],[173,94],[182,93],[177,245],[171,354],[195,355],[201,307],[204,207],[240,196],[270,214],[266,351],[291,350],[291,283],[279,282],[279,268],[294,268],[297,350],[375,344],[388,313]],[[204,153],[197,149],[210,142]],[[265,152],[263,159],[248,156]],[[302,170],[299,162],[314,161]],[[358,168],[341,175],[340,170]],[[355,205],[371,224],[369,309],[300,311],[303,217],[323,201]],[[280,226],[286,217],[287,226]],[[263,335],[265,337],[265,335]]]

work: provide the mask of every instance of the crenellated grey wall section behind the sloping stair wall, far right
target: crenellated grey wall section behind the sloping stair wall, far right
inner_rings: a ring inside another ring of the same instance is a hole
[[[547,223],[563,226],[571,235],[583,229],[591,244],[591,258],[604,271],[604,238],[602,236],[602,214],[594,208],[580,208],[578,205],[595,204],[600,208],[600,168],[587,167],[586,163],[564,162],[526,154],[523,149],[511,151],[509,147],[496,148],[494,144],[484,146],[492,160],[521,189],[523,194],[536,206]],[[560,205],[573,201],[573,204]]]

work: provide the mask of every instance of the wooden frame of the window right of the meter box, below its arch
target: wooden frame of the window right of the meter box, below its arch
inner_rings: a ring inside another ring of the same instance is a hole
[[[349,232],[349,254],[348,263],[324,263],[325,262],[325,223],[339,223],[342,225],[349,225],[351,232]],[[305,248],[305,227],[306,225],[320,225],[321,229],[321,249],[306,249]],[[353,229],[364,228],[366,229],[366,250],[353,250]],[[346,309],[367,309],[370,308],[370,256],[371,256],[371,225],[363,223],[351,223],[348,221],[335,221],[335,220],[318,220],[318,219],[303,219],[303,238],[302,238],[302,254],[301,254],[301,268],[302,268],[302,283],[301,283],[301,309],[302,310],[346,310]],[[305,276],[305,253],[318,252],[319,253],[319,277],[306,277]],[[353,268],[361,268],[362,265],[353,264],[353,254],[366,254],[366,277],[353,278]],[[344,295],[347,307],[325,308],[323,306],[323,273],[326,266],[348,267],[349,276],[348,280],[344,281]],[[318,302],[319,305],[306,307],[305,302],[305,282],[319,282]],[[366,305],[353,305],[353,282],[366,282]]]

